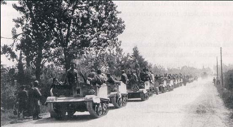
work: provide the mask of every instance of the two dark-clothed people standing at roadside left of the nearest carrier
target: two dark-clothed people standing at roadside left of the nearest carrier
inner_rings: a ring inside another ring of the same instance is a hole
[[[29,86],[21,86],[17,93],[17,103],[15,105],[15,114],[18,118],[26,118],[33,116],[33,120],[41,119],[40,113],[40,100],[42,94],[38,88],[39,82],[36,80]],[[18,109],[18,111],[16,110]]]

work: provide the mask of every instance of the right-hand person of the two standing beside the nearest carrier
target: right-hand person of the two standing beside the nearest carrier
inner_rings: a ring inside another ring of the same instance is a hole
[[[36,80],[33,83],[33,120],[41,119],[40,114],[40,99],[42,97],[38,88],[39,82]]]

